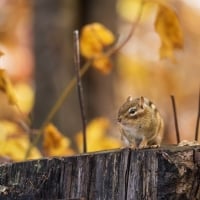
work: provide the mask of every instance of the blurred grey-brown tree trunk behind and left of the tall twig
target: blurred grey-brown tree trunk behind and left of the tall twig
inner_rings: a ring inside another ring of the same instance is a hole
[[[75,75],[73,31],[78,24],[78,0],[34,1],[34,128],[41,126],[65,85]],[[68,135],[81,129],[76,90],[70,94],[53,122]]]

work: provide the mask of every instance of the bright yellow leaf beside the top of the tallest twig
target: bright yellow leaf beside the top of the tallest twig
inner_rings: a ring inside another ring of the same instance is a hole
[[[115,40],[113,33],[99,23],[83,27],[80,36],[80,51],[85,58],[95,58],[103,53]]]

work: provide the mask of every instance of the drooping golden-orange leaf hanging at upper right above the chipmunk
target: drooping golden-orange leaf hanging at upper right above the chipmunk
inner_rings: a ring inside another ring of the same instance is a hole
[[[176,13],[171,8],[160,5],[155,29],[161,39],[160,58],[175,60],[174,50],[183,48],[183,33]]]

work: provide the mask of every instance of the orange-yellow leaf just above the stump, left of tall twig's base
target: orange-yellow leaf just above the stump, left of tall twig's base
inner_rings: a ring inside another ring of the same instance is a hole
[[[43,148],[46,156],[74,154],[70,148],[70,140],[64,137],[53,124],[48,124],[44,130]]]

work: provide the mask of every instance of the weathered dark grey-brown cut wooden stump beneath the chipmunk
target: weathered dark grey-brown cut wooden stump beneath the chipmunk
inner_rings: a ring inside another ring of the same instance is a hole
[[[118,149],[0,166],[0,199],[200,199],[200,146]]]

